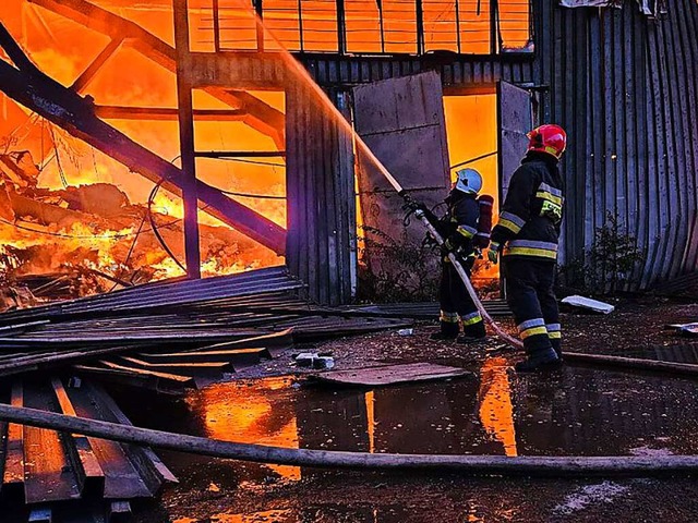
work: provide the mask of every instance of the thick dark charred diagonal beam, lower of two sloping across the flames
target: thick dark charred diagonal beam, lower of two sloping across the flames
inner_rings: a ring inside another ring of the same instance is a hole
[[[89,100],[39,73],[23,74],[0,61],[0,90],[37,114],[56,123],[104,154],[163,188],[180,196],[181,169],[129,138],[97,118]],[[202,181],[196,182],[200,207],[277,254],[286,248],[286,231],[258,212],[227,197]]]

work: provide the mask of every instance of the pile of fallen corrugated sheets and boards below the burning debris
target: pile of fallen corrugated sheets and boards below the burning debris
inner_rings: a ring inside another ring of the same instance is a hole
[[[70,368],[160,392],[220,379],[293,343],[409,327],[309,304],[285,268],[151,283],[0,315],[0,376]]]

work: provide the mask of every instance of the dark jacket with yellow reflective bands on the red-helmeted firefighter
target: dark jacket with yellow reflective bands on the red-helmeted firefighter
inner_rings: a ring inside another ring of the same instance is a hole
[[[564,200],[557,160],[528,153],[512,175],[492,243],[504,246],[504,257],[555,262]]]

